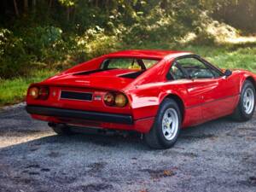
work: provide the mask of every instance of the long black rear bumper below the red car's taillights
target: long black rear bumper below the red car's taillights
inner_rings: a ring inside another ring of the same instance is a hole
[[[39,114],[44,116],[61,117],[61,118],[73,118],[73,119],[86,119],[86,120],[96,120],[108,123],[119,123],[132,125],[133,120],[131,115],[126,114],[116,114],[116,113],[99,113],[82,111],[75,109],[66,108],[49,108],[43,106],[26,106],[26,112],[31,114]]]

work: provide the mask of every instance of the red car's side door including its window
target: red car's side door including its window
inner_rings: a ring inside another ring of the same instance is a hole
[[[232,93],[236,87],[232,79],[226,78],[217,68],[198,56],[181,58],[177,63],[194,82],[188,85],[188,93],[193,95],[198,90],[202,121],[216,119],[234,110],[236,96]]]

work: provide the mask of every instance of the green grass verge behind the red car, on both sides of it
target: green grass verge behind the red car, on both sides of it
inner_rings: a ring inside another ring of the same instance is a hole
[[[243,68],[256,73],[255,44],[199,46],[190,45],[175,47],[173,44],[143,44],[126,49],[182,49],[205,57],[212,64],[221,68]],[[0,106],[24,101],[29,84],[39,82],[54,75],[56,71],[37,71],[31,78],[16,78],[0,80]]]

